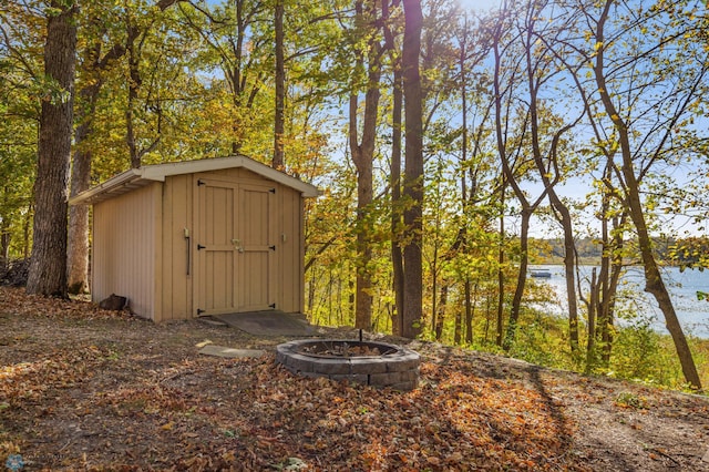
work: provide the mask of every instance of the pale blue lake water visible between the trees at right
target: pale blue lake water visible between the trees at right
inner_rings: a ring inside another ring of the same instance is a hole
[[[566,300],[566,283],[564,279],[564,267],[556,265],[532,266],[534,269],[546,269],[549,271],[549,278],[532,278],[537,284],[548,284],[557,296],[557,302],[548,306],[548,309],[565,315],[568,306]],[[590,279],[590,266],[582,266],[582,277]],[[686,335],[695,335],[700,338],[709,339],[709,301],[698,300],[697,291],[709,293],[709,270],[699,271],[687,269],[679,271],[677,267],[667,267],[662,269],[665,285],[668,287],[677,317],[679,318]],[[623,288],[629,290],[630,296],[627,304],[631,305],[636,312],[648,318],[653,328],[658,332],[668,334],[665,328],[665,318],[657,307],[655,298],[643,290],[645,287],[645,275],[641,267],[628,267],[627,273],[621,279]],[[586,281],[584,287],[588,287]]]

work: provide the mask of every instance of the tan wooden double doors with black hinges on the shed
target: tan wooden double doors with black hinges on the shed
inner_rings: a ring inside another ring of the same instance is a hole
[[[276,308],[274,189],[204,177],[196,187],[197,314]]]

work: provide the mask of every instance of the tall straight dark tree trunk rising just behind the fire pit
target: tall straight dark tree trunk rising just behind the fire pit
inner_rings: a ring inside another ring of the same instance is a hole
[[[403,332],[415,338],[423,317],[423,94],[419,72],[423,13],[420,0],[403,0],[404,33],[401,64],[405,120],[405,170],[403,195],[409,205],[403,214],[409,240],[403,247],[404,308]]]

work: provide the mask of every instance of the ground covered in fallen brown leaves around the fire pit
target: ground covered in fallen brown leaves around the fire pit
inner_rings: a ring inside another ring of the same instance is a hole
[[[709,469],[706,397],[418,341],[419,388],[376,390],[295,377],[286,340],[0,287],[0,468]],[[209,341],[266,355],[199,355]]]

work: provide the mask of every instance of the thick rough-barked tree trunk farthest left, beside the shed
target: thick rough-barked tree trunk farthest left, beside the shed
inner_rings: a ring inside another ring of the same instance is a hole
[[[34,236],[27,284],[29,294],[66,296],[66,184],[71,158],[78,7],[52,1],[44,74],[62,96],[42,101],[35,185]]]

